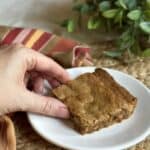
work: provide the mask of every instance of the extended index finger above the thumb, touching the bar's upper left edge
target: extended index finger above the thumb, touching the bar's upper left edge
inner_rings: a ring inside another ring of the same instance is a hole
[[[34,69],[35,71],[41,72],[47,76],[51,76],[61,83],[65,83],[70,79],[67,71],[52,59],[33,50],[28,51],[30,53],[30,57],[27,58],[27,69],[31,69],[32,66],[32,70]]]

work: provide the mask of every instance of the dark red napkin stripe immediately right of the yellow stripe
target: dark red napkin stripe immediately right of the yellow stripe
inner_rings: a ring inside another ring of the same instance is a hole
[[[45,44],[45,42],[47,42],[50,39],[51,36],[52,34],[44,32],[40,36],[40,38],[34,43],[34,45],[32,46],[32,49],[39,50]]]

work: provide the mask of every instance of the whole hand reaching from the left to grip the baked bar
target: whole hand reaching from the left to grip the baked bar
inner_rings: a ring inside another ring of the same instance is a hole
[[[27,89],[33,78],[33,90]],[[37,93],[43,91],[43,80],[53,86],[69,80],[67,72],[52,59],[21,45],[0,49],[0,115],[29,111],[44,115],[68,118],[67,107],[53,97]],[[35,93],[37,92],[37,93]]]

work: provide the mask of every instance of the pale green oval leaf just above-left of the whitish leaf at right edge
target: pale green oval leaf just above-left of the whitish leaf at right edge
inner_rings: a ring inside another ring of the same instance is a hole
[[[138,9],[132,10],[127,14],[127,17],[134,21],[138,20],[140,16],[141,16],[141,10]]]

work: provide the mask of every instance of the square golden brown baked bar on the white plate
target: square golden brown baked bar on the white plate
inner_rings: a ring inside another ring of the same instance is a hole
[[[81,133],[107,127],[133,113],[137,100],[103,69],[85,73],[55,88],[53,94],[69,108]]]

